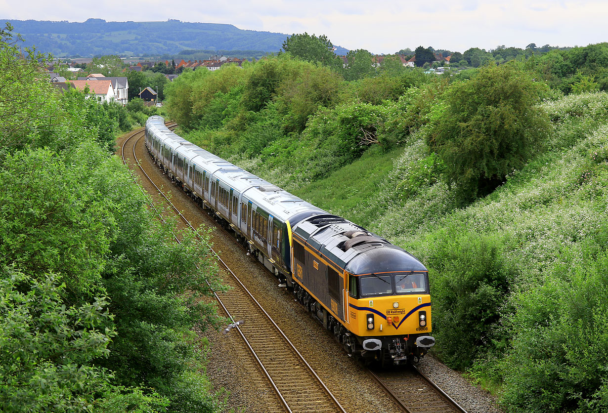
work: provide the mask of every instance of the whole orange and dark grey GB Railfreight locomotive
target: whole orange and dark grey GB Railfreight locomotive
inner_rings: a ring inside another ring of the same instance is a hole
[[[435,344],[429,271],[412,254],[329,214],[292,228],[288,285],[350,355],[401,364]]]

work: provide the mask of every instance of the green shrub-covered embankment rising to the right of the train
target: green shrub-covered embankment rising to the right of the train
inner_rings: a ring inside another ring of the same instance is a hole
[[[435,353],[506,411],[606,411],[608,45],[429,75],[299,39],[318,53],[184,72],[168,114],[420,258]]]

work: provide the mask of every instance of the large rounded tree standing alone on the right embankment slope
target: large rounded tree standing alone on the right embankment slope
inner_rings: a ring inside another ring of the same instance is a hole
[[[530,159],[548,131],[547,115],[536,106],[546,90],[531,73],[506,64],[483,67],[443,95],[426,138],[461,203],[485,196]]]

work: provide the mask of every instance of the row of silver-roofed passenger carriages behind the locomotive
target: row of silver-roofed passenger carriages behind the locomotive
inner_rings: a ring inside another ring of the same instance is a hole
[[[148,152],[165,173],[291,284],[290,222],[327,213],[174,134],[160,116],[148,118],[145,133]]]

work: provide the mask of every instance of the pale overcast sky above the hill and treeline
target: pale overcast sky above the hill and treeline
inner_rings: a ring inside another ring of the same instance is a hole
[[[324,34],[335,45],[395,53],[432,46],[464,52],[502,44],[587,46],[608,41],[608,0],[0,0],[0,19],[226,23],[239,29]],[[4,26],[4,25],[2,25]]]

